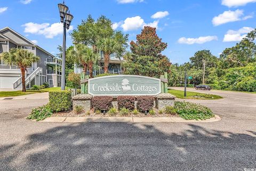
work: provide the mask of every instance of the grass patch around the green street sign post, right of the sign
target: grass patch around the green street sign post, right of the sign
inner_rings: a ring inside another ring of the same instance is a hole
[[[187,97],[184,97],[184,91],[182,91],[182,90],[169,89],[168,92],[180,99],[213,100],[213,99],[221,99],[222,98],[221,96],[218,96],[218,95],[211,95],[211,94],[191,92],[191,91],[187,91]]]

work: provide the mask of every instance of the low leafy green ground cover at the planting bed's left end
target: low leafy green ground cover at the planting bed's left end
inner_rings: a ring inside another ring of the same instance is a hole
[[[36,119],[36,121],[41,121],[47,117],[50,117],[52,115],[52,112],[53,112],[52,109],[47,104],[47,105],[32,109],[27,119]]]

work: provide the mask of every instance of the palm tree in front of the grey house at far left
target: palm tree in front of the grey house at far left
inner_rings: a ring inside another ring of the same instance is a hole
[[[31,67],[34,62],[39,61],[39,57],[25,49],[12,48],[10,52],[4,52],[1,56],[8,65],[17,65],[21,71],[22,91],[26,92],[25,72],[27,67]]]

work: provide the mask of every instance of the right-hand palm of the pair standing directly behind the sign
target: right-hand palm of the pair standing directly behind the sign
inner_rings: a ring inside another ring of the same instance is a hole
[[[104,56],[104,73],[108,73],[110,54],[116,52],[118,44],[114,38],[101,38],[97,42],[97,48],[103,52]]]

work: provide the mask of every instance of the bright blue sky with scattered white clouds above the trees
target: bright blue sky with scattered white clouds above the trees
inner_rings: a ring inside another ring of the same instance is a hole
[[[62,44],[58,3],[55,0],[0,0],[0,27],[10,27],[52,54]],[[167,42],[164,54],[172,63],[189,61],[197,50],[219,56],[255,26],[256,0],[66,0],[76,28],[88,14],[101,14],[113,27],[135,40],[143,25],[157,27]],[[67,46],[71,45],[70,36]]]

